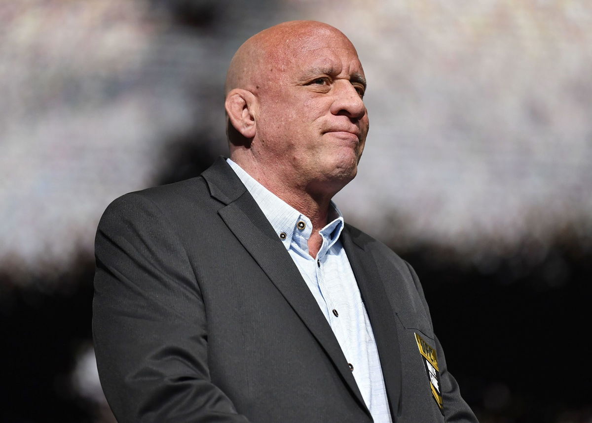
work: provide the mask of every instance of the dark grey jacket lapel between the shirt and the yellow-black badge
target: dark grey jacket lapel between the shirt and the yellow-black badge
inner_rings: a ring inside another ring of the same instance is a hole
[[[376,341],[380,358],[382,376],[387,388],[388,401],[393,421],[401,412],[401,352],[399,347],[397,326],[394,321],[395,311],[392,309],[384,288],[381,272],[372,252],[366,249],[368,236],[359,230],[346,225],[343,230],[342,244],[348,255],[353,274],[358,282],[362,301],[372,325],[372,333]],[[383,269],[384,271],[384,269]],[[396,284],[398,274],[390,275]]]

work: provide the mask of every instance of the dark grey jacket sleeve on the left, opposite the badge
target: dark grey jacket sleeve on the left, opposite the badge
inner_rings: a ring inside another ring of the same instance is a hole
[[[247,422],[211,382],[200,287],[159,207],[141,194],[115,200],[95,256],[96,362],[117,421]]]

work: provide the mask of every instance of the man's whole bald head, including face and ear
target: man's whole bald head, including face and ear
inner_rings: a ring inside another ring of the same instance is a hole
[[[226,79],[230,158],[276,195],[330,198],[356,174],[365,89],[356,49],[331,25],[284,22],[253,35]]]

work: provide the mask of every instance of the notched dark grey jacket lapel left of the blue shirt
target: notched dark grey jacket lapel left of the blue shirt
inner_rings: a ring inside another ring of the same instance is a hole
[[[218,210],[218,214],[300,316],[369,415],[329,323],[253,197],[222,158],[205,171],[202,177],[207,181],[211,195],[226,204]]]

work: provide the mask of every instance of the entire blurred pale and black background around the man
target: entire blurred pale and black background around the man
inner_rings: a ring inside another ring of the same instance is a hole
[[[336,203],[417,270],[481,422],[592,422],[587,0],[0,0],[0,421],[114,421],[98,219],[226,154],[227,64],[291,19],[358,48],[371,130]]]

